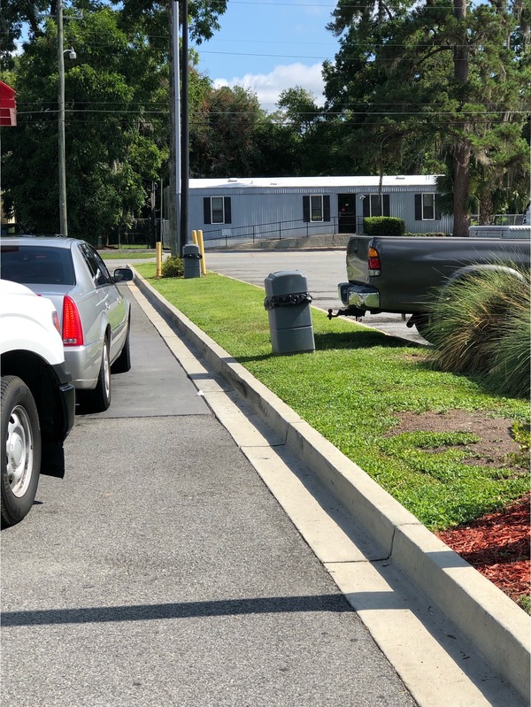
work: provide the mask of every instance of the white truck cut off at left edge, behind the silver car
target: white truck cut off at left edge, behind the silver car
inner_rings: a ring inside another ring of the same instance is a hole
[[[65,475],[63,442],[75,389],[65,369],[58,313],[46,297],[0,280],[2,526],[31,509],[40,473]]]

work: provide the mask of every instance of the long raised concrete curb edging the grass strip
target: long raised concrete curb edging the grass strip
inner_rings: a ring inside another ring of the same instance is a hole
[[[358,465],[310,427],[135,271],[135,284],[246,403],[281,436],[393,563],[456,625],[524,700],[531,619],[419,523]]]

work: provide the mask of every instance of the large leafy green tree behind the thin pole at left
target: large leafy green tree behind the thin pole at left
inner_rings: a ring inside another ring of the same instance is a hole
[[[4,203],[39,231],[58,229],[57,29],[47,20],[17,62],[18,126],[3,135]],[[66,175],[70,231],[104,240],[131,219],[158,179],[167,143],[167,84],[142,35],[131,40],[110,8],[87,12],[65,27]],[[70,63],[68,63],[70,62]],[[159,126],[161,127],[161,126]]]

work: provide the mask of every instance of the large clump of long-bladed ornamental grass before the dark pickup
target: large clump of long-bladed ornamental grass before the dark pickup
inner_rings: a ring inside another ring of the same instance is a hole
[[[519,274],[485,270],[445,290],[431,307],[427,332],[435,367],[480,374],[500,395],[529,396],[530,279]]]

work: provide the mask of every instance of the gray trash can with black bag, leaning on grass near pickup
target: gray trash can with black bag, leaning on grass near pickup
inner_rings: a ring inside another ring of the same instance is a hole
[[[273,353],[314,351],[312,296],[304,275],[298,270],[282,270],[269,273],[264,284]]]

